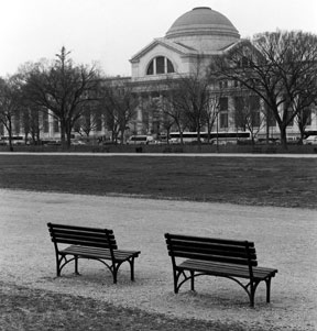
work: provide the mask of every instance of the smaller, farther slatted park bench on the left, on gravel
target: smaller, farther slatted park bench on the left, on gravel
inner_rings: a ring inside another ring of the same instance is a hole
[[[75,274],[79,275],[78,260],[91,258],[109,268],[114,284],[119,267],[127,261],[130,264],[131,280],[134,280],[134,258],[141,252],[118,250],[112,230],[53,223],[47,223],[47,227],[55,247],[57,277],[72,261],[75,261]]]

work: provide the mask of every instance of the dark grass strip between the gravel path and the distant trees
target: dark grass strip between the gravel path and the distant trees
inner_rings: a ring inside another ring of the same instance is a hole
[[[0,155],[0,188],[316,208],[317,158]]]

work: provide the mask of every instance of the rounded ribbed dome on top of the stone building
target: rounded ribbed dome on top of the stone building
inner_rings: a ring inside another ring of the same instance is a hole
[[[165,37],[200,52],[212,52],[237,42],[240,34],[218,11],[209,7],[198,7],[179,16]]]

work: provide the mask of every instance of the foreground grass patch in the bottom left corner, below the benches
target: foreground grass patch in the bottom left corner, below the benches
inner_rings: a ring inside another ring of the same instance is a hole
[[[175,319],[78,296],[0,284],[0,330],[244,331],[226,321]],[[261,330],[259,330],[261,331]]]

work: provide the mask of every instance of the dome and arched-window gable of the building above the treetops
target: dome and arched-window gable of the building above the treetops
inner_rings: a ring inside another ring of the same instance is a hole
[[[194,8],[179,16],[164,37],[155,38],[130,59],[132,81],[190,73],[197,58],[207,65],[212,55],[239,41],[238,30],[223,14],[208,7]]]

